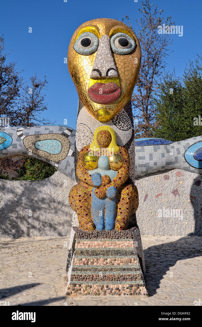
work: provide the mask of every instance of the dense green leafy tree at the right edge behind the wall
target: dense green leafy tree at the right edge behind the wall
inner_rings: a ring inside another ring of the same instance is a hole
[[[159,84],[159,93],[152,99],[157,120],[157,127],[153,129],[154,137],[180,141],[202,135],[200,60],[198,56],[195,64],[189,63],[183,78],[177,78],[175,72],[166,73]]]

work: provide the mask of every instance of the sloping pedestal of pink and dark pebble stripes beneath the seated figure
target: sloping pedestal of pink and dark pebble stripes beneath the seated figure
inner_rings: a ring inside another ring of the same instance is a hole
[[[67,295],[148,296],[134,247],[135,228],[121,231],[122,235],[115,230],[86,232],[76,227],[74,230],[76,243]],[[106,238],[107,233],[118,238]],[[85,238],[82,239],[81,235]],[[88,238],[89,235],[97,237]],[[130,238],[127,239],[127,236]],[[130,250],[129,244],[132,246]]]

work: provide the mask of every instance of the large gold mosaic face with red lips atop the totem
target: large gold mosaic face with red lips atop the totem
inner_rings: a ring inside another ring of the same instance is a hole
[[[71,38],[70,75],[80,101],[101,122],[112,120],[131,99],[140,63],[136,35],[117,20],[90,20]]]

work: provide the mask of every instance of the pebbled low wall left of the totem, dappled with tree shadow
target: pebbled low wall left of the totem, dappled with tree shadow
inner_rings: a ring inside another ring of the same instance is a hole
[[[0,180],[0,237],[69,235],[73,185],[58,171],[42,181]]]

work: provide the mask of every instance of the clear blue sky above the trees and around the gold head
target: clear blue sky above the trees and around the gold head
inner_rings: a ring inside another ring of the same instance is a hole
[[[183,36],[173,35],[166,70],[182,76],[186,63],[201,54],[201,13],[199,0],[153,0],[163,17],[170,15],[176,25],[183,25]],[[9,61],[17,60],[25,80],[37,73],[46,75],[48,110],[44,117],[55,124],[64,124],[75,129],[78,95],[69,75],[64,58],[67,57],[70,39],[75,29],[83,22],[94,18],[121,20],[129,16],[132,25],[139,19],[141,1],[134,0],[9,0],[1,2],[0,34],[4,34],[5,50],[10,52]],[[32,27],[32,33],[28,28]]]

